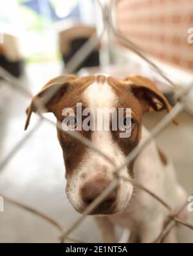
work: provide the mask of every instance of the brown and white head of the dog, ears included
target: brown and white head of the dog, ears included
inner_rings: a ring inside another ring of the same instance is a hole
[[[57,134],[66,166],[66,194],[69,202],[81,213],[111,183],[114,167],[95,151],[66,134],[65,129],[72,128],[73,133],[84,135],[119,166],[140,142],[143,113],[151,109],[166,109],[169,112],[171,107],[157,87],[142,76],[130,75],[125,80],[103,75],[84,78],[60,76],[47,83],[33,98],[27,110],[26,128],[32,112],[37,111],[35,102],[44,101],[49,93],[53,96],[46,101],[46,109],[53,112],[57,121],[64,125],[64,131],[57,129]],[[100,116],[97,111],[101,109],[103,112]],[[108,109],[111,109],[109,116],[105,114]],[[123,110],[122,115],[118,114],[119,109]],[[131,110],[130,115],[126,109]],[[107,119],[109,130],[103,124],[100,126]],[[114,129],[112,124],[117,124]],[[124,136],[125,131],[130,131],[129,136]],[[132,178],[133,164],[131,162],[124,167],[122,175]],[[120,180],[116,190],[93,214],[122,211],[132,195],[132,184]]]

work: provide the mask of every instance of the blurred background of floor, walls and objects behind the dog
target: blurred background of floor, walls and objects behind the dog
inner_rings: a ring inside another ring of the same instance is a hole
[[[109,3],[111,1],[101,1]],[[193,81],[192,0],[122,0],[112,10],[113,23],[178,85]],[[0,156],[10,153],[24,134],[25,110],[30,99],[10,87],[1,68],[35,94],[51,78],[68,70],[68,61],[93,34],[99,43],[78,67],[77,76],[108,73],[125,78],[137,73],[149,77],[174,104],[174,88],[163,80],[125,42],[106,31],[95,0],[6,0],[0,8]],[[190,93],[187,109],[193,105]],[[193,111],[192,111],[193,112]],[[149,113],[144,124],[152,129],[165,113]],[[46,114],[53,118],[51,114]],[[55,120],[53,118],[53,120]],[[179,126],[170,124],[156,139],[172,158],[179,182],[193,193],[193,122],[189,112],[179,114]],[[33,115],[29,129],[37,122]],[[68,229],[78,217],[64,193],[64,164],[55,127],[41,127],[0,169],[0,192],[39,209]],[[189,222],[193,224],[193,213]],[[48,222],[5,202],[0,212],[0,242],[57,242],[58,231]],[[118,231],[120,233],[120,231]],[[180,242],[193,242],[193,231],[181,227]],[[100,242],[98,229],[88,217],[73,237]]]

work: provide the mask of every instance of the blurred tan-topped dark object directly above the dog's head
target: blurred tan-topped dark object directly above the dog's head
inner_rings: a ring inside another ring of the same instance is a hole
[[[96,33],[93,27],[77,25],[59,32],[59,46],[64,64],[86,43],[87,39]],[[77,67],[75,72],[83,67],[96,67],[99,65],[99,47],[96,47],[89,56]]]

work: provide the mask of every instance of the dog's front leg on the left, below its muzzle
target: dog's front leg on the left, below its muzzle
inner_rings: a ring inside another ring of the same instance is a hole
[[[108,217],[95,217],[96,224],[102,235],[102,242],[116,242],[115,228]]]

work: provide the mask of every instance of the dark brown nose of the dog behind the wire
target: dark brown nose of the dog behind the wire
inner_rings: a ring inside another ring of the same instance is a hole
[[[91,204],[110,184],[111,180],[108,179],[93,178],[92,180],[88,180],[80,192],[83,202],[87,205]],[[116,200],[116,191],[117,189],[110,193],[101,203],[101,206],[104,206],[104,208],[111,206]]]

